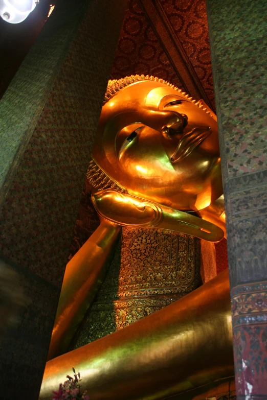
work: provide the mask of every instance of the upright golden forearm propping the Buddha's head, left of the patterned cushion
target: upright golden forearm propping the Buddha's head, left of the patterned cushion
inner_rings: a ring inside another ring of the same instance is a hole
[[[100,226],[66,265],[48,360],[64,354],[105,276],[120,227]]]

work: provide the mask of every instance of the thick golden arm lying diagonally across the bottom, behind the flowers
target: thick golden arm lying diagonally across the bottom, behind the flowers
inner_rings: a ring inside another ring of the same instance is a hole
[[[234,373],[228,272],[140,321],[47,363],[40,400],[80,371],[94,400],[160,399]]]

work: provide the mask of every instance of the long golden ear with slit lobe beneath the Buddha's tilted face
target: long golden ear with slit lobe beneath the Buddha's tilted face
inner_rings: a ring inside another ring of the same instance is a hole
[[[224,231],[211,222],[163,204],[105,189],[92,195],[98,214],[121,226],[167,229],[218,242]]]

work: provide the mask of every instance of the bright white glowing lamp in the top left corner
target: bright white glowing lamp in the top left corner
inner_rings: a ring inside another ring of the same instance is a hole
[[[0,0],[0,16],[9,23],[24,21],[39,0]]]

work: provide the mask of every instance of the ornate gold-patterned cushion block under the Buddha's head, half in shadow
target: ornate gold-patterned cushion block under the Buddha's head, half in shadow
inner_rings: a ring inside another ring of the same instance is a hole
[[[71,349],[166,307],[200,284],[200,240],[161,229],[123,227],[105,281]]]

